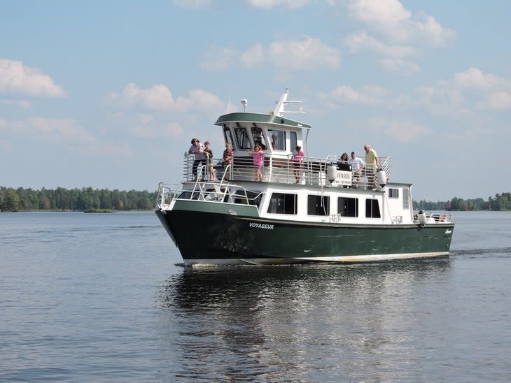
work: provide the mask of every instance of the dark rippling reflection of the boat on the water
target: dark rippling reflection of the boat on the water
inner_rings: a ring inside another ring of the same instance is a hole
[[[450,275],[448,258],[184,268],[162,287],[161,336],[179,337],[176,377],[405,379],[421,358],[421,327],[433,326],[421,311]]]

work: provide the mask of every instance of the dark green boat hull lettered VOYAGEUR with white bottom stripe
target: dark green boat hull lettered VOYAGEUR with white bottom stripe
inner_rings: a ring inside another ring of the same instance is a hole
[[[156,212],[187,264],[358,262],[442,256],[449,254],[454,230],[451,223],[313,224],[260,219],[251,206],[213,205],[211,208],[211,203],[187,201],[176,203],[172,210]],[[207,211],[201,210],[206,206]]]

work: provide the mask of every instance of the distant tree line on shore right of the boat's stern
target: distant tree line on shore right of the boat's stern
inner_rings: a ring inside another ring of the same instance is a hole
[[[487,201],[482,198],[464,200],[454,197],[444,202],[414,201],[414,208],[423,210],[476,211],[476,210],[511,210],[511,193],[495,194]]]

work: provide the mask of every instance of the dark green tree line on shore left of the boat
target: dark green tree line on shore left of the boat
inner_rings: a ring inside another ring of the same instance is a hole
[[[0,212],[26,211],[83,211],[107,210],[152,210],[158,192],[118,189],[24,189],[0,186]]]

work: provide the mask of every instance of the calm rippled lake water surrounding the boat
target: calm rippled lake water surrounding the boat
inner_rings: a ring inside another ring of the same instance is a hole
[[[0,213],[0,380],[510,381],[511,212],[454,219],[442,259],[185,268],[153,212]]]

